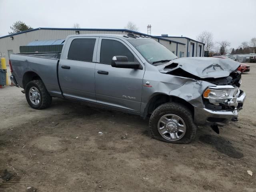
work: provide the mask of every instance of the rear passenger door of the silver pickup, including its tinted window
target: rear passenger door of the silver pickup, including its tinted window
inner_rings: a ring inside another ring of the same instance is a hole
[[[58,68],[65,97],[96,102],[94,70],[98,39],[70,37],[65,44]]]

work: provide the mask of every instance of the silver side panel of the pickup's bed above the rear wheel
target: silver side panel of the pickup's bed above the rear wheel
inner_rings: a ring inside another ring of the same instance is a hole
[[[11,54],[12,74],[15,76],[18,85],[22,88],[26,75],[37,74],[52,96],[61,96],[58,84],[58,58],[60,53],[26,53]]]

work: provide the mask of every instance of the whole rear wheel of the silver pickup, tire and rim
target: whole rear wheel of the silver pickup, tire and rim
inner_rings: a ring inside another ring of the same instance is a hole
[[[25,89],[26,100],[34,109],[44,109],[51,105],[52,97],[46,90],[42,80],[28,82]]]

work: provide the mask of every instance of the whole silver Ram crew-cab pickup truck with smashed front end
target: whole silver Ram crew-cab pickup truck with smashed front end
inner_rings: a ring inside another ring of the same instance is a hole
[[[71,35],[61,53],[12,54],[11,81],[34,109],[52,97],[80,100],[150,117],[158,140],[189,143],[197,125],[216,132],[237,120],[246,94],[238,62],[177,58],[147,36]]]

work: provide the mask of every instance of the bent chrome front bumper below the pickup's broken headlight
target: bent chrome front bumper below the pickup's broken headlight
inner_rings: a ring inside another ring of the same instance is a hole
[[[244,100],[246,98],[245,92],[236,98],[238,106],[233,111],[228,110],[212,110],[206,108],[194,108],[194,123],[197,125],[212,125],[216,124],[223,126],[230,122],[232,118],[238,117],[238,110],[242,109]]]

